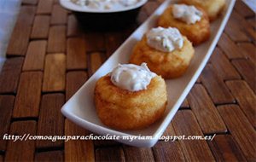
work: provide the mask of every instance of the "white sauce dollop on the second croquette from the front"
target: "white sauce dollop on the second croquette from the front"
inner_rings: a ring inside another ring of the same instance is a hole
[[[183,47],[183,36],[177,28],[157,27],[147,33],[148,46],[162,52],[172,52]]]

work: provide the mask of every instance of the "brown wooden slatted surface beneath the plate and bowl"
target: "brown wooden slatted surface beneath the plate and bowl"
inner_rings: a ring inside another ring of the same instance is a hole
[[[58,0],[23,0],[0,74],[0,161],[256,160],[256,23],[241,0],[201,77],[165,135],[214,135],[212,142],[159,141],[133,148],[113,141],[3,140],[4,134],[89,135],[61,106],[162,0],[149,0],[138,23],[119,32],[83,32]]]

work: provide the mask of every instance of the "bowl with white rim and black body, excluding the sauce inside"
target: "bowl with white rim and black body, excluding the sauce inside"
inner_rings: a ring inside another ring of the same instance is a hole
[[[136,21],[137,14],[147,2],[148,0],[142,0],[135,5],[119,9],[90,9],[69,0],[60,0],[63,8],[73,11],[81,26],[97,30],[118,29],[131,25]]]

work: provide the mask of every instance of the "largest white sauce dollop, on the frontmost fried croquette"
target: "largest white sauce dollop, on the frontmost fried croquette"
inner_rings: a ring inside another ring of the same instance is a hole
[[[150,72],[146,63],[141,66],[134,64],[119,64],[110,73],[114,85],[124,90],[138,91],[146,90],[151,79],[156,76]]]

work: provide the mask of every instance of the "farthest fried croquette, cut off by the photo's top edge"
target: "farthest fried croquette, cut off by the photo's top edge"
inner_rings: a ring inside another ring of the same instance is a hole
[[[207,12],[210,21],[216,20],[225,6],[225,0],[181,0],[181,3],[201,7]]]

